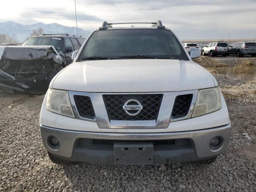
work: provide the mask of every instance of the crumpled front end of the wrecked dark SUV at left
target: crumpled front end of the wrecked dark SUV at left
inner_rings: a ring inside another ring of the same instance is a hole
[[[64,57],[54,46],[0,47],[0,89],[43,94],[63,64]]]

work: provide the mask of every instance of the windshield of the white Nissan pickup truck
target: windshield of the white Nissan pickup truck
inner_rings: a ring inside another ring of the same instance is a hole
[[[79,60],[92,57],[117,59],[125,56],[189,60],[174,34],[169,30],[159,29],[96,31],[86,42]]]

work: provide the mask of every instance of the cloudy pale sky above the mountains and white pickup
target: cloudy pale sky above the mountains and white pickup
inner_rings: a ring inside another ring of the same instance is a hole
[[[256,0],[76,0],[78,27],[156,22],[180,39],[256,38]],[[74,0],[1,0],[0,22],[76,26]]]

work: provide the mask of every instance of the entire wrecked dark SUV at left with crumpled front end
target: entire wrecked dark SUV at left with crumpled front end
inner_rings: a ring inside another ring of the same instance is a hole
[[[0,88],[21,94],[43,94],[52,78],[73,62],[84,39],[68,34],[28,38],[22,46],[0,46]]]

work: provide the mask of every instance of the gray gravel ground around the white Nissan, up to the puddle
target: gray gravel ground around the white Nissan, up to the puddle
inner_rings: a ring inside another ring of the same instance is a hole
[[[228,149],[212,165],[53,164],[38,129],[44,96],[0,91],[0,191],[255,192],[256,82],[215,76],[227,101],[232,133]]]

